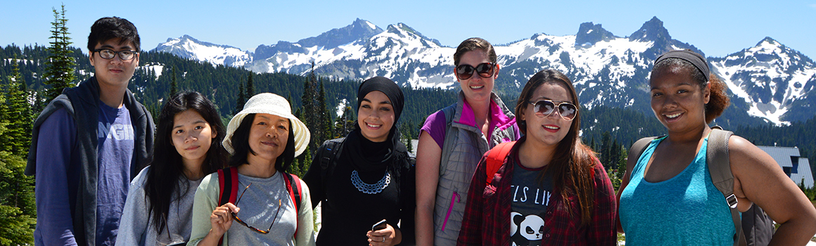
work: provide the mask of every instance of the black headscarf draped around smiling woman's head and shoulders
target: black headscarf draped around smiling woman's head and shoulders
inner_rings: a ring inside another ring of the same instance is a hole
[[[400,133],[397,130],[397,121],[402,113],[402,106],[405,99],[402,90],[394,81],[387,77],[372,77],[363,81],[357,89],[357,116],[360,116],[360,104],[362,99],[371,91],[379,90],[388,96],[394,108],[394,124],[388,132],[388,138],[383,143],[374,143],[365,138],[360,133],[359,123],[355,124],[355,130],[346,137],[344,148],[351,158],[354,169],[360,171],[370,171],[384,169],[388,164],[395,163],[397,156],[395,152],[406,152],[405,144],[400,142]]]

